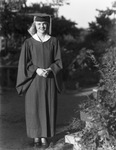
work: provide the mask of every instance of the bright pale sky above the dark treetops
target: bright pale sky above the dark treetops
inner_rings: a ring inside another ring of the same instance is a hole
[[[42,2],[48,0],[41,0]],[[59,7],[58,15],[64,16],[77,23],[77,27],[88,28],[88,23],[95,21],[99,10],[112,8],[115,0],[69,0],[70,5]],[[40,0],[27,0],[27,5],[31,3],[39,3]]]

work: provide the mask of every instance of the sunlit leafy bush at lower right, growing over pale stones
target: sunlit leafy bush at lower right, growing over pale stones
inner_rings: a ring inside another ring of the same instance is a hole
[[[96,65],[101,73],[97,95],[90,95],[81,104],[81,110],[90,120],[82,130],[84,150],[116,149],[116,47],[107,49],[102,64]],[[95,94],[95,93],[94,93]]]

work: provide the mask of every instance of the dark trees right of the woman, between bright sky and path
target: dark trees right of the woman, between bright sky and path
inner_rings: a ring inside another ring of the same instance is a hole
[[[91,58],[88,57],[88,50],[92,50],[97,61],[101,63],[106,49],[116,44],[116,27],[114,19],[112,20],[110,18],[110,15],[114,11],[111,9],[98,11],[99,16],[96,17],[95,22],[89,23],[88,30],[78,29],[77,33],[75,32],[77,37],[73,34],[76,42],[71,41],[70,43],[69,41],[64,42],[64,40],[61,40],[63,41],[63,45],[67,43],[65,45],[65,51],[63,51],[63,63],[64,68],[66,68],[64,78],[68,79],[68,81],[71,80],[70,82],[73,85],[79,82],[79,85],[82,87],[98,83],[98,68],[93,65]],[[79,63],[79,60],[81,60],[81,63]],[[74,88],[76,87],[73,86]]]

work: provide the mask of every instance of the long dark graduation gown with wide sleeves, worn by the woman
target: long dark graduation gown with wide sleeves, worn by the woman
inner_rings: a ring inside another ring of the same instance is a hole
[[[47,78],[36,73],[37,68],[51,68]],[[59,42],[50,37],[40,42],[33,37],[23,43],[17,74],[16,89],[25,93],[27,135],[51,137],[55,132],[57,92],[62,89],[62,61]]]

